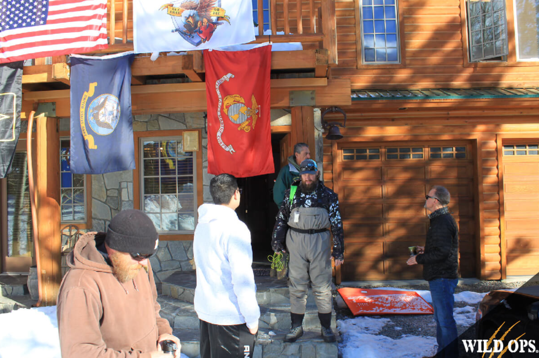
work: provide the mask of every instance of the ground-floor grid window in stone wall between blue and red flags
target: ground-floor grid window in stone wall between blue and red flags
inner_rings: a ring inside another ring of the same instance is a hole
[[[184,152],[181,136],[140,141],[141,209],[160,233],[192,233],[197,220],[197,152]]]

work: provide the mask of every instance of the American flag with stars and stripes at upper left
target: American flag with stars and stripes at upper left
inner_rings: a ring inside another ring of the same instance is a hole
[[[107,0],[0,0],[0,64],[107,46]]]

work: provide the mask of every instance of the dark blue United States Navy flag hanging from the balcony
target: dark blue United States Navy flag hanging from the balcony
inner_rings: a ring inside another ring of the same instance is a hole
[[[71,172],[135,169],[131,52],[71,56]]]

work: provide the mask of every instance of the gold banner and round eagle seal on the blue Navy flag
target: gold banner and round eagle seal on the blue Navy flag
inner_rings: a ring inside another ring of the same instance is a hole
[[[120,101],[112,94],[102,94],[95,97],[86,109],[86,104],[93,97],[97,85],[97,82],[89,84],[88,90],[82,95],[79,108],[80,128],[84,140],[88,141],[88,149],[98,149],[98,147],[95,145],[94,137],[88,134],[86,120],[88,120],[92,131],[100,136],[108,136],[114,132],[120,121]]]

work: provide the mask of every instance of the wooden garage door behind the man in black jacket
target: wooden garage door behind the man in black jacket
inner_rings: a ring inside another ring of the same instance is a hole
[[[433,185],[451,193],[460,229],[462,277],[475,276],[473,162],[468,142],[361,143],[338,146],[345,264],[343,280],[421,278],[407,266],[407,248],[424,245],[425,195]]]

